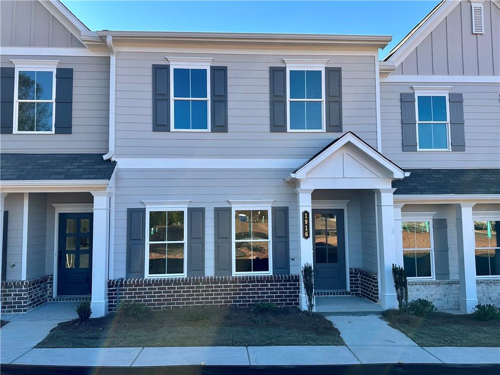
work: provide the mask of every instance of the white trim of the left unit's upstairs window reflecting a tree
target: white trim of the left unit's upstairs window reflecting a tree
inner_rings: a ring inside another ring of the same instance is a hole
[[[60,60],[10,60],[14,64],[14,116],[13,116],[13,134],[54,134],[55,132],[55,69]],[[51,71],[52,72],[52,99],[50,100],[20,100],[18,99],[19,89],[19,71],[34,70],[34,71]],[[30,103],[52,103],[52,130],[51,131],[27,131],[17,130],[18,124],[18,107],[19,102]]]

